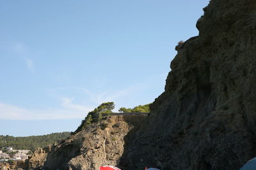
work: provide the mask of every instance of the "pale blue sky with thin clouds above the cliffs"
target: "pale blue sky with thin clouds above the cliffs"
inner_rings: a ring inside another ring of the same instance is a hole
[[[152,103],[208,3],[0,1],[0,135],[75,131],[101,103]]]

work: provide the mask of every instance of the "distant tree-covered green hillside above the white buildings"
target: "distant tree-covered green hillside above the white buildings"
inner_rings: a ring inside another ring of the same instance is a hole
[[[13,149],[35,150],[54,143],[60,139],[66,139],[70,132],[52,133],[43,136],[13,137],[0,135],[0,148],[12,146]]]

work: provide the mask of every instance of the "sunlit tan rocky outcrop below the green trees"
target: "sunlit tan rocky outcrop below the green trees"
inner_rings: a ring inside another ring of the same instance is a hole
[[[147,115],[104,117],[58,143],[38,149],[28,160],[28,169],[99,169],[116,165],[124,152],[125,136],[136,131]]]

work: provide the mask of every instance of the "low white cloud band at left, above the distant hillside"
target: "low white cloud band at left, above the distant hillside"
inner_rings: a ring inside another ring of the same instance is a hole
[[[84,118],[91,108],[72,103],[72,99],[62,100],[61,108],[45,110],[29,110],[13,106],[12,104],[0,103],[0,119],[2,120],[54,120]]]

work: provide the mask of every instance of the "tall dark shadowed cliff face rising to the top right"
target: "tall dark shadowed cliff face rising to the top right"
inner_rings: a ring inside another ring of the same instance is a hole
[[[212,0],[121,166],[239,169],[255,157],[256,1]]]

